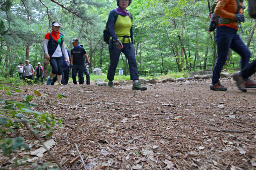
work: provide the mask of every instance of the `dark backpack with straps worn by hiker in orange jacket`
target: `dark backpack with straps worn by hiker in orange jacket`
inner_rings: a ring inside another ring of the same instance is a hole
[[[255,1],[255,0],[254,0]],[[242,30],[242,25],[239,21],[237,20],[231,20],[229,18],[222,18],[220,16],[217,16],[215,13],[214,13],[214,9],[216,7],[216,5],[218,4],[219,1],[216,1],[212,4],[212,11],[210,12],[210,24],[209,24],[209,31],[212,32],[214,31],[219,24],[228,24],[230,22],[237,22],[239,25],[240,25],[240,28]],[[245,9],[244,6],[240,6],[240,0],[236,0],[237,2],[237,6],[238,6],[238,9],[237,9],[237,13],[236,14],[239,14],[240,12],[240,8],[243,8]],[[242,2],[242,0],[241,0]],[[242,31],[243,32],[243,31]]]

